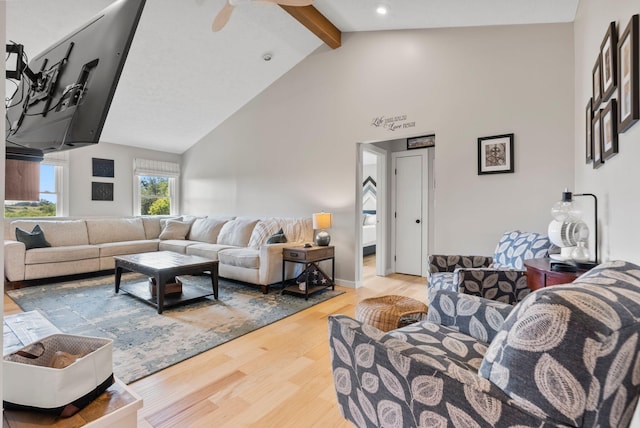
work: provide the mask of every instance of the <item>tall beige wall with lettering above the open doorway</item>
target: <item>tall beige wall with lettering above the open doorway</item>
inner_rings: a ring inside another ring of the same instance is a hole
[[[435,132],[437,252],[491,254],[546,230],[573,182],[571,24],[345,34],[183,155],[193,214],[334,213],[336,277],[355,277],[356,143]],[[212,101],[215,102],[215,101]],[[390,131],[375,117],[406,115]],[[477,175],[477,138],[515,133],[515,174]]]

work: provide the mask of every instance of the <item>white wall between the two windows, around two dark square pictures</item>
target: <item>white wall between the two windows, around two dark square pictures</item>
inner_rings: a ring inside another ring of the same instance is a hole
[[[92,177],[92,158],[113,159],[114,178]],[[69,151],[69,215],[133,215],[133,159],[180,163],[181,155],[101,142]],[[92,201],[91,182],[114,183],[112,201]]]

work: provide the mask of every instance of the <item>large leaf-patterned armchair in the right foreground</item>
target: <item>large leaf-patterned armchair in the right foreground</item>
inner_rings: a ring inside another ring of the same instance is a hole
[[[515,306],[446,290],[390,332],[329,317],[357,427],[627,427],[640,396],[640,266],[602,264]]]

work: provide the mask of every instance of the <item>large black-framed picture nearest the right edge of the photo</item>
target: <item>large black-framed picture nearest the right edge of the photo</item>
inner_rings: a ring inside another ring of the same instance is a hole
[[[618,132],[623,133],[640,119],[640,73],[638,49],[639,15],[633,15],[618,41]]]

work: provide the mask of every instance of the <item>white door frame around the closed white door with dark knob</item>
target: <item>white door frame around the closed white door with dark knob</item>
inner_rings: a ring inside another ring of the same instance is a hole
[[[422,277],[427,276],[427,257],[429,255],[429,233],[431,222],[429,221],[429,153],[428,149],[407,150],[403,152],[391,153],[391,167],[393,172],[391,174],[391,213],[395,213],[396,210],[396,161],[399,157],[420,156],[422,165],[422,240],[421,240],[421,254],[420,258],[422,263],[420,264],[420,272]],[[391,254],[394,257],[391,258],[391,269],[396,272],[396,222],[391,222]]]

